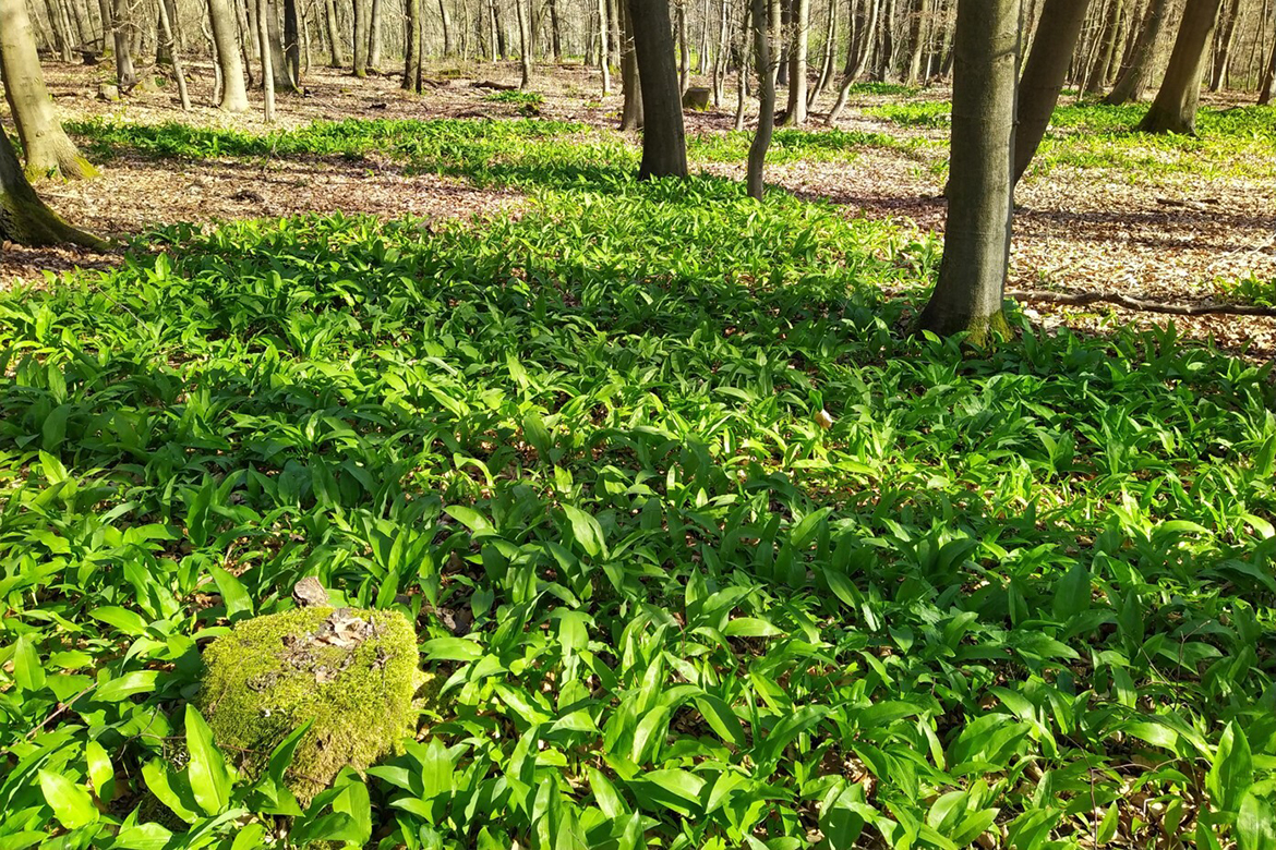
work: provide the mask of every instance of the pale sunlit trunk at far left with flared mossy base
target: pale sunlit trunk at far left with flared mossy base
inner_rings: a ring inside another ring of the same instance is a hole
[[[97,175],[57,121],[36,55],[26,0],[0,0],[0,78],[31,178]]]

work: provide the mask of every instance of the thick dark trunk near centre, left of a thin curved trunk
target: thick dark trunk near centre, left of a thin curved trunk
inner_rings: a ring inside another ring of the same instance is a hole
[[[674,61],[669,0],[629,0],[642,89],[642,164],[638,178],[685,177],[683,97]]]

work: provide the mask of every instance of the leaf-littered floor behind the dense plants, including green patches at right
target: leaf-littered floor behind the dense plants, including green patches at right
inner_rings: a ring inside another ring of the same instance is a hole
[[[299,213],[369,213],[468,218],[514,212],[535,186],[475,185],[406,167],[379,150],[359,155],[274,153],[263,155],[168,155],[139,145],[102,143],[108,126],[190,127],[263,134],[300,131],[315,121],[517,119],[583,124],[637,145],[614,130],[619,94],[600,97],[597,74],[581,66],[538,69],[533,89],[542,102],[493,101],[482,82],[517,82],[516,64],[430,69],[425,96],[398,87],[397,75],[356,80],[315,68],[305,96],[281,96],[276,125],[260,112],[227,116],[211,108],[212,69],[195,65],[195,107],[177,108],[172,85],[120,102],[97,97],[110,80],[106,66],[50,62],[51,92],[89,157],[102,166],[93,181],[41,186],[68,219],[102,234],[131,236],[174,223],[273,218]],[[706,80],[697,80],[704,83]],[[782,94],[782,93],[781,93]],[[499,94],[498,94],[499,97]],[[863,85],[837,129],[822,145],[798,139],[794,150],[773,149],[768,184],[809,200],[826,200],[849,217],[893,219],[917,233],[942,234],[947,176],[947,89]],[[688,113],[693,169],[743,178],[739,134],[731,133],[734,92],[721,108]],[[1074,98],[1064,98],[1071,103]],[[822,97],[808,134],[824,130],[832,93]],[[1276,124],[1270,111],[1235,108],[1234,97],[1208,96],[1201,139],[1159,139],[1131,133],[1142,107],[1063,106],[1039,161],[1017,195],[1012,289],[1113,292],[1155,302],[1234,301],[1233,291],[1270,301],[1276,280]],[[1240,113],[1240,126],[1228,116]],[[1245,120],[1248,115],[1248,121]],[[3,115],[3,107],[0,107]],[[1212,121],[1210,119],[1213,119]],[[87,122],[87,124],[85,124]],[[1261,127],[1266,122],[1267,130]],[[1062,126],[1060,126],[1062,125]],[[1259,129],[1254,130],[1254,125]],[[1220,127],[1221,130],[1216,130]],[[790,136],[792,140],[792,136]],[[783,144],[783,140],[777,140]],[[697,144],[698,143],[698,144]],[[726,143],[726,144],[723,144]],[[835,144],[840,149],[833,149]],[[171,154],[171,152],[170,152]],[[0,256],[0,285],[38,278],[45,270],[105,265],[111,256],[9,246]],[[1108,330],[1133,321],[1164,325],[1169,317],[1101,305],[1025,305],[1046,328]],[[1224,315],[1174,316],[1192,339],[1212,338],[1250,358],[1276,357],[1276,320]]]

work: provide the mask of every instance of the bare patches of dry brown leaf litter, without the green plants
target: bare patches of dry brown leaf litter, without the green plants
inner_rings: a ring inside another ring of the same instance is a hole
[[[51,92],[68,119],[91,116],[161,124],[264,131],[259,110],[227,116],[212,108],[212,68],[191,68],[191,98],[181,112],[170,84],[151,93],[134,93],[117,103],[97,99],[110,69],[46,64]],[[517,117],[516,104],[493,103],[482,84],[512,85],[518,68],[503,64],[453,64],[430,68],[429,90],[403,92],[397,75],[356,80],[332,69],[313,68],[304,96],[279,98],[274,126],[295,127],[315,120]],[[734,83],[734,80],[732,80]],[[695,84],[708,84],[695,80]],[[540,68],[536,90],[545,96],[545,119],[615,127],[618,93],[601,96],[598,76],[579,65]],[[920,98],[946,97],[943,89]],[[799,196],[843,205],[849,215],[889,217],[911,222],[920,231],[942,234],[946,206],[946,131],[902,127],[865,115],[863,107],[887,98],[852,98],[837,125],[849,130],[914,138],[906,149],[864,149],[851,163],[801,162],[776,164],[767,178]],[[1235,101],[1207,96],[1215,106]],[[734,122],[734,90],[721,107],[686,116],[688,134],[726,133]],[[256,103],[254,102],[254,106]],[[832,93],[815,104],[812,126],[823,124]],[[0,107],[0,116],[4,108]],[[632,139],[630,139],[632,140]],[[743,178],[744,163],[704,163],[706,171]],[[102,178],[40,186],[59,213],[88,229],[120,236],[177,222],[292,215],[305,212],[370,213],[385,218],[402,214],[468,218],[517,212],[524,203],[514,190],[476,189],[462,181],[404,175],[376,157],[278,157],[264,162],[225,159],[207,162],[152,161],[131,155],[106,164]],[[1025,178],[1017,196],[1011,288],[1119,292],[1143,299],[1202,303],[1216,298],[1219,282],[1250,274],[1276,278],[1276,182],[1219,177],[1212,169],[1132,175],[1108,168],[1057,166]],[[0,254],[0,285],[5,280],[38,278],[42,270],[63,271],[75,265],[105,265],[112,257],[74,250],[24,250],[8,246]],[[1102,305],[1026,305],[1028,315],[1048,329],[1067,324],[1086,331],[1106,331],[1133,321],[1164,325],[1170,317]],[[1276,358],[1276,320],[1253,316],[1174,316],[1180,333],[1212,339],[1250,358]]]

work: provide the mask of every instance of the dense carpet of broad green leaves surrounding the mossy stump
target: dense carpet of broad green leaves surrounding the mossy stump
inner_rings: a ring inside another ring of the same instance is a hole
[[[1270,366],[910,336],[934,238],[570,125],[80,133],[530,195],[0,297],[0,846],[1270,846]],[[188,701],[310,575],[447,707],[300,812]]]

